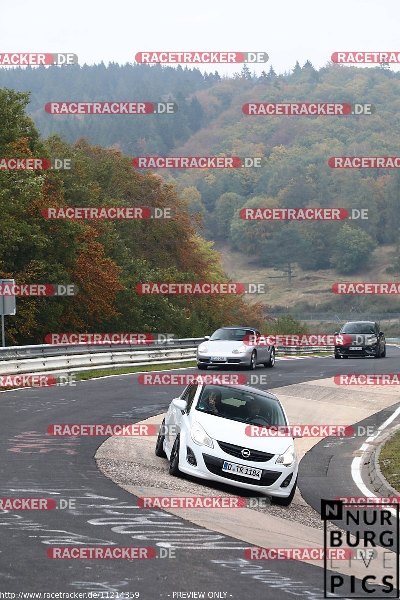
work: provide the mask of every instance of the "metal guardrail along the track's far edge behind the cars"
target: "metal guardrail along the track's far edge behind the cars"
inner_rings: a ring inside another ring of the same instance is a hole
[[[191,362],[204,338],[173,340],[173,343],[140,347],[136,344],[71,344],[51,346],[14,346],[0,348],[0,375],[35,373],[77,373],[104,368],[140,367],[152,364]],[[400,343],[388,338],[388,343]],[[333,346],[277,346],[276,355],[309,355],[333,352]]]

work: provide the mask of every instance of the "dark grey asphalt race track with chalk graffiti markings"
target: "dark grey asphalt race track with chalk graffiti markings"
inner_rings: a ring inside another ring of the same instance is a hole
[[[282,360],[274,369],[259,367],[256,373],[267,374],[268,383],[260,388],[275,389],[337,373],[398,373],[399,358],[400,350],[388,347],[387,358],[380,361]],[[248,597],[251,586],[255,600],[323,598],[323,571],[317,566],[298,561],[245,560],[244,550],[249,545],[238,539],[206,531],[166,511],[138,508],[136,497],[106,478],[95,464],[94,455],[103,437],[47,435],[52,424],[143,421],[165,412],[182,391],[177,386],[146,388],[139,385],[137,377],[108,377],[76,386],[0,394],[0,496],[76,501],[74,509],[0,511],[2,591],[104,592],[103,598],[112,598],[116,592],[140,592],[141,599],[149,600],[179,598],[177,592],[206,592],[207,598],[212,592],[209,597],[242,600]],[[380,425],[393,410],[379,412],[369,418],[370,422]],[[348,439],[329,451],[325,443],[312,448],[300,464],[300,491],[317,511],[321,497],[362,495],[350,469],[354,443],[361,445],[363,440]],[[194,539],[199,540],[196,548]],[[159,557],[161,548],[167,554],[174,544],[175,558]],[[54,546],[77,545],[151,547],[158,556],[151,560],[100,561],[54,560],[46,555]]]

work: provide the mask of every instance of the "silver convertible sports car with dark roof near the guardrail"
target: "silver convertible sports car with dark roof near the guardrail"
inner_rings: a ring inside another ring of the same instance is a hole
[[[275,365],[275,347],[262,343],[258,329],[253,327],[222,327],[197,349],[197,367],[236,365],[254,370],[257,365],[272,368]],[[256,339],[257,338],[257,339]]]

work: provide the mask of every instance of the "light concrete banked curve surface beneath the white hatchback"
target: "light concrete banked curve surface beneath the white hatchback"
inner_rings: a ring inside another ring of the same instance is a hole
[[[400,394],[395,387],[373,386],[347,388],[338,386],[333,378],[298,383],[286,387],[269,389],[276,394],[285,407],[291,425],[352,425],[398,403]],[[145,424],[161,425],[164,414],[143,421]],[[100,470],[137,497],[147,496],[244,496],[254,495],[251,491],[232,488],[224,493],[215,489],[213,482],[190,478],[179,479],[169,475],[166,459],[155,456],[157,437],[113,436],[106,440],[97,451],[95,458]],[[303,437],[296,439],[295,445],[299,460],[323,437]],[[362,440],[356,444],[354,456],[359,454]],[[300,466],[301,473],[301,466]],[[351,472],[344,477],[351,478]],[[140,481],[140,484],[139,484]],[[218,484],[217,484],[218,485]],[[222,486],[225,489],[225,486]],[[228,490],[229,488],[226,487]],[[361,493],[359,494],[362,495]],[[236,538],[259,548],[322,548],[323,522],[320,515],[308,506],[299,490],[288,508],[270,506],[263,511],[250,508],[235,509],[163,509],[206,529]],[[274,514],[275,513],[275,514]],[[312,518],[309,515],[312,514]],[[282,518],[283,517],[283,518]],[[306,518],[305,518],[306,517]],[[328,523],[328,528],[338,527]],[[354,542],[354,537],[352,537]],[[379,562],[387,552],[377,547]],[[394,553],[393,553],[394,554]],[[393,557],[394,558],[394,557]],[[308,563],[323,568],[323,560],[309,560]],[[328,568],[330,562],[328,561]],[[365,565],[362,560],[335,561],[335,572],[344,575],[363,577]],[[375,572],[384,576],[384,569]]]

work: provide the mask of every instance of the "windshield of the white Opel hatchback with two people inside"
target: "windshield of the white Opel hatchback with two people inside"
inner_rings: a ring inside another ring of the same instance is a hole
[[[234,387],[204,386],[196,410],[254,425],[287,425],[278,400]]]

